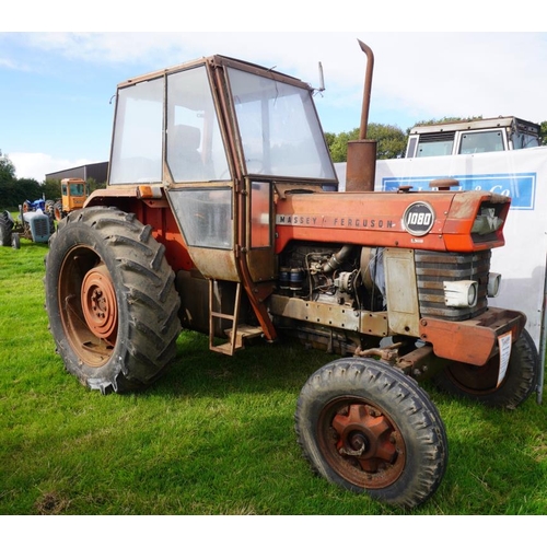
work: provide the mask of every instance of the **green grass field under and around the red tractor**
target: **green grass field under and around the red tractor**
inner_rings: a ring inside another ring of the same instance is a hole
[[[333,356],[288,341],[228,358],[184,333],[150,389],[81,386],[47,328],[46,253],[24,240],[0,247],[0,514],[406,514],[327,484],[300,453],[296,398]],[[427,388],[449,467],[412,514],[547,513],[547,420],[535,395],[510,412]]]

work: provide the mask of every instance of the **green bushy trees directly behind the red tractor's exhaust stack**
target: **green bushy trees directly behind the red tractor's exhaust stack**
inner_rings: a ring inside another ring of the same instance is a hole
[[[333,162],[347,161],[348,141],[359,140],[359,128],[338,135],[325,135]],[[366,139],[375,140],[376,159],[389,160],[404,155],[407,146],[406,133],[396,126],[384,124],[369,124]]]

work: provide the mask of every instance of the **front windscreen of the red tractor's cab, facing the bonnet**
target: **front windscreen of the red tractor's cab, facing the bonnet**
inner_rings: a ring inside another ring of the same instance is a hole
[[[248,174],[335,179],[307,90],[229,69]]]

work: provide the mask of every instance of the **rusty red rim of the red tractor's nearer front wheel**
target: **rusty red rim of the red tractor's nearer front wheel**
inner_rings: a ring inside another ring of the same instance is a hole
[[[318,423],[322,452],[344,479],[377,489],[400,477],[406,461],[403,434],[377,405],[339,398],[324,408]]]

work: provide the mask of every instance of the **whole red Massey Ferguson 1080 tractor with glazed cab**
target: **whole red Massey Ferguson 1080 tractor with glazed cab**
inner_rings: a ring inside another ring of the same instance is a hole
[[[304,455],[337,485],[414,507],[447,457],[419,382],[513,408],[539,360],[526,317],[488,305],[510,199],[454,181],[373,191],[360,44],[345,193],[298,79],[213,56],[119,84],[108,185],[53,235],[46,307],[66,369],[103,393],[158,380],[182,328],[225,354],[283,335],[338,353],[300,394]]]

